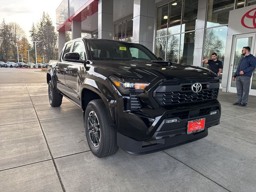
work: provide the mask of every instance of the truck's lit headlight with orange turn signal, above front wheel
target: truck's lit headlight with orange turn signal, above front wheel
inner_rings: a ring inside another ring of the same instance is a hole
[[[145,88],[149,85],[149,82],[142,80],[123,79],[116,76],[111,76],[110,80],[122,94],[144,93]]]

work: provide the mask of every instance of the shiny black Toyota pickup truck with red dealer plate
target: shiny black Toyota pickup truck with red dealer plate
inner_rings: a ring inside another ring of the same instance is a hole
[[[218,77],[163,61],[140,44],[79,38],[48,65],[51,106],[62,97],[82,108],[90,149],[147,154],[192,142],[220,123]],[[191,146],[192,147],[192,146]]]

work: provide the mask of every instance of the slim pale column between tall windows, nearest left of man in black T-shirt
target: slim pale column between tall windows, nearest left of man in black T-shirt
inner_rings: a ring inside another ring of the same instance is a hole
[[[201,66],[203,49],[204,49],[204,26],[207,12],[207,1],[198,1],[197,23],[196,23],[196,38],[194,47],[194,66]]]

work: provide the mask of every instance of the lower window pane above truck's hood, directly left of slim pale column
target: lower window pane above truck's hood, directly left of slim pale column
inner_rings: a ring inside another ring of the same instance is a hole
[[[179,63],[193,65],[194,46],[195,32],[181,34]]]

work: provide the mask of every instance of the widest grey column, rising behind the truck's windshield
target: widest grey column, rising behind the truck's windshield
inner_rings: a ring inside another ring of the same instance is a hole
[[[134,0],[132,41],[153,50],[156,3],[153,0]]]

